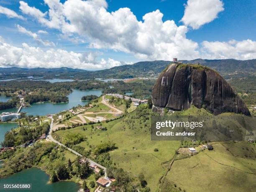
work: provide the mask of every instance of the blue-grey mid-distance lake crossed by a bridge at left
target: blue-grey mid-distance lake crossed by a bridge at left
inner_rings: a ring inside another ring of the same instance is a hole
[[[67,103],[51,103],[51,102],[44,102],[44,103],[34,103],[29,108],[22,108],[21,112],[26,112],[27,115],[47,115],[47,114],[55,114],[59,113],[63,110],[69,110],[72,107],[76,107],[77,105],[85,105],[88,101],[81,101],[82,96],[86,95],[97,95],[100,96],[102,90],[87,90],[87,91],[79,91],[73,90],[72,93],[68,95],[69,102]],[[2,110],[0,113],[3,112],[17,112],[17,109],[12,108],[8,110]]]

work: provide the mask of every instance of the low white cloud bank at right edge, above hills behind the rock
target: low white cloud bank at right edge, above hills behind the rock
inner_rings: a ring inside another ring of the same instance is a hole
[[[243,41],[203,41],[201,54],[207,59],[255,59],[256,41],[250,39]]]

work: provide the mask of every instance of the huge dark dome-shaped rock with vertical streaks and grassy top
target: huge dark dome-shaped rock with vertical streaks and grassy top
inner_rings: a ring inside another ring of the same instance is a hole
[[[224,112],[250,115],[237,93],[217,72],[199,64],[170,64],[153,87],[153,104],[174,110],[190,105],[205,107],[213,114]]]

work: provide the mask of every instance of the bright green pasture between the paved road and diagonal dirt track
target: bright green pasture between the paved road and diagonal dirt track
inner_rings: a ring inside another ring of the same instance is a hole
[[[173,158],[175,150],[180,146],[180,141],[151,141],[148,128],[147,130],[145,127],[141,128],[140,121],[134,120],[132,128],[127,126],[125,120],[131,119],[130,116],[131,114],[109,123],[102,123],[102,126],[108,129],[107,131],[92,130],[91,125],[87,125],[85,131],[82,127],[77,127],[57,131],[56,134],[61,138],[60,141],[64,141],[69,132],[87,137],[87,141],[78,144],[85,150],[92,149],[104,141],[113,141],[118,147],[110,151],[111,160],[115,166],[136,175],[143,172],[148,186],[155,191],[159,179],[167,171],[166,166],[161,163]],[[154,148],[158,148],[159,151],[155,152]]]

